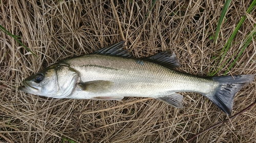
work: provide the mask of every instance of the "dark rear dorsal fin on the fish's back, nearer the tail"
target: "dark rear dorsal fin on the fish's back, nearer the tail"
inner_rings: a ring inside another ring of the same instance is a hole
[[[172,50],[162,51],[155,55],[143,58],[143,60],[157,63],[171,69],[175,69],[180,66],[178,60],[176,59],[176,54]]]

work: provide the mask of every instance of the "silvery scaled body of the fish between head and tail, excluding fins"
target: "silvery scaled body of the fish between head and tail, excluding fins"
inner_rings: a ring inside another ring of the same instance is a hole
[[[84,62],[83,62],[84,61]],[[67,62],[79,72],[79,82],[105,80],[113,82],[108,92],[90,92],[76,88],[74,98],[95,97],[163,97],[174,92],[197,92],[203,95],[218,85],[211,79],[186,75],[164,66],[107,55],[87,55]]]

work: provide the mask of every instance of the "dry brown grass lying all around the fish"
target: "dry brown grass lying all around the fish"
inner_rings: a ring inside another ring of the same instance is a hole
[[[232,1],[218,44],[214,37],[223,2],[2,0],[0,24],[38,58],[0,32],[0,142],[182,142],[228,117],[205,97],[184,95],[184,109],[154,99],[119,101],[39,97],[17,90],[20,82],[46,66],[126,40],[136,57],[173,49],[180,71],[205,76],[249,1]],[[113,5],[114,4],[114,5]],[[225,60],[238,51],[256,23],[252,12]],[[121,28],[120,28],[121,27]],[[228,74],[255,74],[255,38]],[[230,63],[224,67],[222,75]],[[255,80],[234,99],[233,114],[256,98]],[[256,108],[212,129],[193,142],[255,142]]]

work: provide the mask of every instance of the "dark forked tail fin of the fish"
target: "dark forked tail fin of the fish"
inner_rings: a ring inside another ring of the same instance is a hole
[[[219,82],[219,87],[205,96],[230,116],[233,108],[234,95],[251,82],[254,76],[254,74],[248,74],[210,77]]]

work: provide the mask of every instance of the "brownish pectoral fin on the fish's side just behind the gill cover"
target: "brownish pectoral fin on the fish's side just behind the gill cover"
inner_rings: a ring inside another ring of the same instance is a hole
[[[113,87],[114,82],[106,80],[95,80],[88,82],[80,82],[78,86],[83,90],[91,93],[108,92]]]

